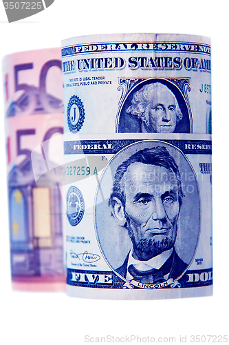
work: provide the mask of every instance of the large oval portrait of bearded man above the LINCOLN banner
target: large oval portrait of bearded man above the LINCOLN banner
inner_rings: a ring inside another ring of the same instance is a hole
[[[144,283],[177,279],[190,266],[199,239],[197,176],[183,152],[168,142],[129,143],[120,141],[122,148],[97,188],[100,250],[127,281],[136,276]],[[145,271],[153,275],[142,278]]]

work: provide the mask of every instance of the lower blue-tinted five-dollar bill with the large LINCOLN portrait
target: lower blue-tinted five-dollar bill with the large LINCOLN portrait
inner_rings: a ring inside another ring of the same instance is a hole
[[[210,135],[76,133],[64,144],[67,294],[211,295]]]

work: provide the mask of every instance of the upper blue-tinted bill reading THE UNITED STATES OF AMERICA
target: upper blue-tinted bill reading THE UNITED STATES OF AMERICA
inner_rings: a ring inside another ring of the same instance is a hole
[[[65,132],[210,133],[210,39],[109,34],[62,42]]]

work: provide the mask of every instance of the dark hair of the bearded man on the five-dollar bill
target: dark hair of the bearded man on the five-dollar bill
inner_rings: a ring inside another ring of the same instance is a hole
[[[123,161],[120,166],[118,166],[113,181],[113,190],[109,198],[109,206],[114,206],[116,204],[116,200],[114,199],[116,197],[122,202],[122,206],[125,207],[126,195],[124,193],[124,184],[122,183],[122,179],[124,177],[124,173],[127,172],[128,167],[134,163],[162,166],[168,171],[174,172],[175,176],[177,177],[179,206],[182,205],[182,197],[184,197],[184,194],[182,192],[182,182],[179,174],[179,168],[173,157],[164,146],[156,146],[154,148],[144,148],[143,150],[136,152],[126,161]]]

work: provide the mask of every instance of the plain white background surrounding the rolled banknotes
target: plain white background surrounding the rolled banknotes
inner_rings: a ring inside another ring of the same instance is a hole
[[[0,3],[1,58],[20,50],[61,46],[61,39],[69,37],[117,32],[174,32],[212,39],[214,295],[134,302],[12,291],[1,83],[1,344],[81,345],[86,344],[85,335],[176,337],[179,343],[179,335],[229,333],[227,1],[55,0],[47,10],[16,23],[8,23]]]

